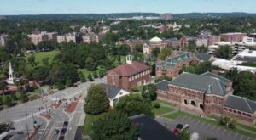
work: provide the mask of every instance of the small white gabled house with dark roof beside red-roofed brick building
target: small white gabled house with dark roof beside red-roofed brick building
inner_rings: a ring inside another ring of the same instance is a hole
[[[119,87],[113,87],[103,83],[102,83],[102,87],[106,92],[107,98],[109,99],[109,105],[112,108],[114,104],[119,102],[119,98],[123,98],[130,94],[130,92],[127,92],[124,89],[121,89]]]

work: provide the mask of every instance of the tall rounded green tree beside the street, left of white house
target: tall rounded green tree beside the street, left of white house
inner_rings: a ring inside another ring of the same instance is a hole
[[[87,114],[99,115],[109,109],[109,100],[101,84],[89,87],[85,102],[84,111]]]

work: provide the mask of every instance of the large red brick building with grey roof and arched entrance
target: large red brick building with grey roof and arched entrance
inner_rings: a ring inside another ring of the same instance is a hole
[[[256,103],[232,95],[232,81],[210,72],[183,73],[172,81],[157,83],[159,99],[201,115],[228,115],[242,122],[256,123]]]

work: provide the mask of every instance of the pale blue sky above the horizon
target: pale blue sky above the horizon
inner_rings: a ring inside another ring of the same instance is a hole
[[[0,0],[0,14],[256,13],[255,0]]]

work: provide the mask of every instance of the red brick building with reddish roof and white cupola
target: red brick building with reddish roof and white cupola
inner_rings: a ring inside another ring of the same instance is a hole
[[[132,61],[131,55],[126,57],[126,62],[127,64],[119,65],[108,71],[108,85],[131,91],[133,87],[150,82],[150,67],[148,65]]]

